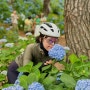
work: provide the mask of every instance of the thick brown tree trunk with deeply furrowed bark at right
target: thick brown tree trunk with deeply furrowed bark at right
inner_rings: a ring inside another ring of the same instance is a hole
[[[64,10],[67,46],[90,59],[90,0],[65,0]]]

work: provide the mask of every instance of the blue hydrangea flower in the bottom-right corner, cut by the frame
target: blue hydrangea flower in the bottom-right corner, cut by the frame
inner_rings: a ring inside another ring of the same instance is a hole
[[[78,80],[75,90],[90,90],[90,79]]]

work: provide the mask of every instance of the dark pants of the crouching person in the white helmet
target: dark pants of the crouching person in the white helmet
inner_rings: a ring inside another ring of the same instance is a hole
[[[8,83],[10,84],[14,84],[19,72],[17,71],[18,69],[18,65],[15,61],[13,61],[9,67],[8,67],[8,71],[7,71],[7,78],[8,78]]]

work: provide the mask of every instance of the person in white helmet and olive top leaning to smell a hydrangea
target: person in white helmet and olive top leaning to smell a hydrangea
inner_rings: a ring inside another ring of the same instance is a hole
[[[58,42],[60,37],[59,28],[53,23],[43,23],[39,27],[39,34],[36,37],[36,43],[29,44],[24,53],[19,55],[8,68],[8,82],[14,83],[19,72],[17,69],[21,66],[27,65],[30,61],[34,65],[42,62],[43,65],[52,64],[48,51]]]

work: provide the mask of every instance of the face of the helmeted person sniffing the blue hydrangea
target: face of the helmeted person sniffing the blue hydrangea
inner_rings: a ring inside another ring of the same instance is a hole
[[[43,38],[43,46],[47,51],[49,51],[56,43],[58,43],[58,38],[56,37]]]

